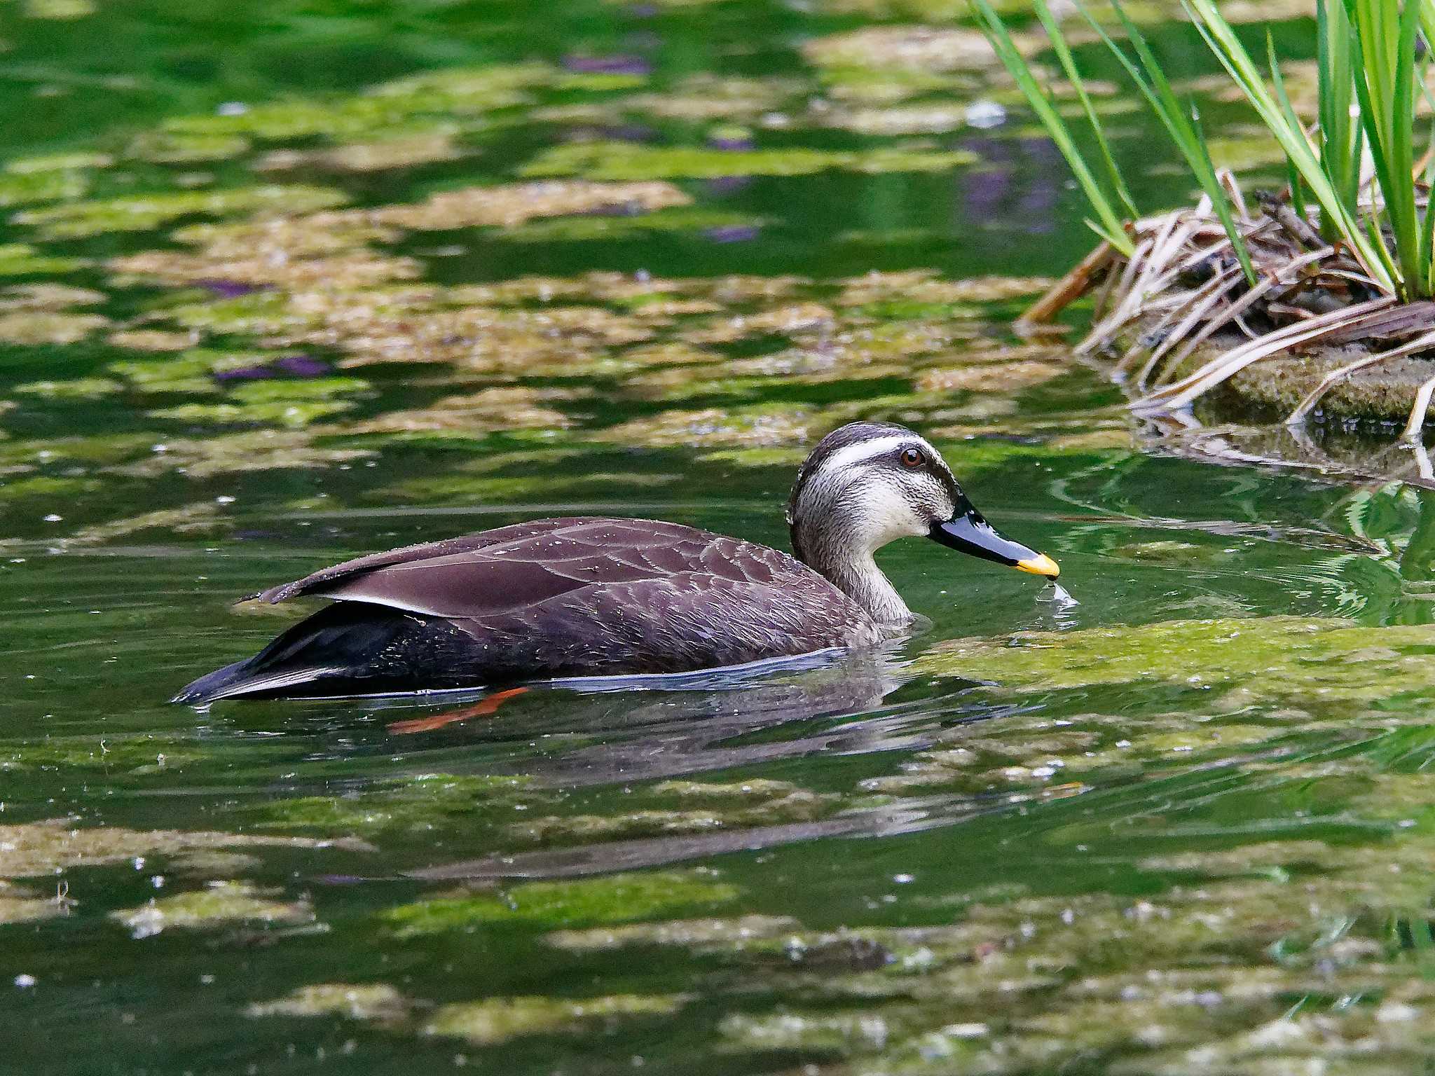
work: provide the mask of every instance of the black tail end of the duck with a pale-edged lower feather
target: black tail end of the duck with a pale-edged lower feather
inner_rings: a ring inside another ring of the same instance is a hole
[[[356,694],[382,690],[382,656],[412,627],[400,613],[340,601],[281,634],[245,661],[215,669],[171,702]]]

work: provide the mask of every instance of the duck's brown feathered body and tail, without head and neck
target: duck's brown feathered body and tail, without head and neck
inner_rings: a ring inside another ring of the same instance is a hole
[[[337,601],[179,699],[677,673],[880,636],[792,557],[649,519],[515,524],[360,557],[258,597],[300,595]]]

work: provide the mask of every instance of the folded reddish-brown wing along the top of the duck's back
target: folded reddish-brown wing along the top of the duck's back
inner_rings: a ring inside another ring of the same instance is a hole
[[[258,597],[273,603],[314,595],[485,620],[574,591],[673,577],[689,587],[709,577],[768,585],[792,574],[812,575],[786,554],[738,538],[650,519],[575,516],[360,557]]]

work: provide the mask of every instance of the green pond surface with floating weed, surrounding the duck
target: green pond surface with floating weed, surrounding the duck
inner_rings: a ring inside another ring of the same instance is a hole
[[[1091,237],[956,10],[0,3],[0,1067],[1429,1066],[1435,501],[1177,458],[1012,334]],[[1079,604],[901,542],[878,654],[165,703],[359,552],[785,545],[860,416]]]

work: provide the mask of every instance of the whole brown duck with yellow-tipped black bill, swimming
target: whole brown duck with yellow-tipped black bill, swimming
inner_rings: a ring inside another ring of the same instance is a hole
[[[852,422],[798,469],[792,555],[695,527],[560,516],[359,557],[251,595],[329,598],[172,702],[349,697],[693,673],[872,647],[916,617],[874,554],[905,537],[1056,580],[905,426]]]

